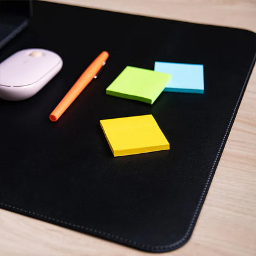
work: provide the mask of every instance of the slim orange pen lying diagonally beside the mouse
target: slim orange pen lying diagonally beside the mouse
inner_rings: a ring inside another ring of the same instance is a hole
[[[108,52],[103,51],[97,58],[86,68],[84,73],[78,78],[78,81],[74,83],[71,89],[67,92],[64,98],[58,103],[54,111],[50,113],[50,121],[55,122],[66,111],[71,103],[81,94],[82,90],[86,88],[92,79],[97,78],[97,74],[105,65],[108,58]]]

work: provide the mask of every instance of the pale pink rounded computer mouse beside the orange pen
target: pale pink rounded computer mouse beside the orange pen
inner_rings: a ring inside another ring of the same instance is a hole
[[[25,49],[0,63],[0,98],[25,100],[61,70],[62,58],[45,49]]]

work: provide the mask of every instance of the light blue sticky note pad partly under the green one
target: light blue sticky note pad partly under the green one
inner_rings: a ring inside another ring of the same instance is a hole
[[[204,65],[154,62],[154,71],[172,74],[164,92],[204,92]]]

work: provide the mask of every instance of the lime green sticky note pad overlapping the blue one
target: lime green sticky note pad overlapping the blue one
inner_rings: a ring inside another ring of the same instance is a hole
[[[171,74],[127,66],[106,88],[106,94],[153,104],[171,78]]]

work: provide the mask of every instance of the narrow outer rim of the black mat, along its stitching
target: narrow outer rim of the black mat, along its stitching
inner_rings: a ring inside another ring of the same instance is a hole
[[[14,210],[18,213],[21,213],[21,214],[25,213],[26,215],[31,216],[31,217],[41,218],[41,220],[49,220],[50,222],[57,223],[57,224],[61,223],[62,225],[64,224],[67,227],[71,226],[72,228],[74,228],[78,231],[86,230],[89,233],[97,234],[98,236],[100,236],[102,238],[106,238],[106,239],[111,238],[111,239],[114,239],[116,242],[120,242],[121,244],[136,247],[137,249],[141,249],[141,250],[147,250],[148,252],[167,252],[169,250],[178,249],[179,247],[183,246],[183,244],[188,242],[188,240],[191,237],[191,234],[193,233],[194,225],[196,225],[196,220],[198,219],[199,213],[200,213],[201,208],[202,208],[202,204],[203,204],[204,200],[206,199],[206,195],[207,195],[207,192],[209,190],[210,183],[212,182],[212,178],[214,177],[215,170],[217,168],[217,163],[218,163],[218,161],[220,159],[220,156],[222,154],[222,151],[224,149],[225,142],[228,138],[228,134],[229,134],[229,132],[231,130],[231,127],[233,125],[235,115],[238,112],[238,108],[239,108],[239,105],[241,103],[242,96],[244,95],[244,92],[245,92],[245,89],[246,89],[246,86],[247,86],[247,82],[249,81],[249,78],[250,78],[250,74],[252,73],[252,69],[254,68],[255,58],[256,58],[256,53],[255,53],[254,58],[252,60],[252,64],[250,65],[250,69],[249,69],[249,72],[247,74],[246,80],[244,81],[244,85],[243,85],[241,93],[239,95],[238,102],[236,102],[236,106],[234,107],[234,111],[233,111],[233,114],[231,115],[231,119],[230,119],[230,122],[228,123],[228,127],[227,127],[225,135],[222,139],[222,143],[220,144],[220,148],[219,148],[218,153],[217,153],[217,155],[214,159],[214,162],[212,164],[212,169],[210,170],[210,174],[209,174],[209,177],[207,178],[206,185],[204,186],[204,190],[202,191],[202,194],[201,194],[201,197],[199,199],[198,205],[196,206],[196,210],[194,211],[193,217],[191,218],[191,222],[190,222],[190,225],[188,226],[188,230],[186,231],[183,238],[181,238],[177,242],[174,242],[173,244],[169,244],[169,245],[166,245],[166,246],[150,246],[150,245],[142,244],[142,243],[139,243],[139,242],[136,242],[136,241],[132,241],[131,239],[122,238],[121,236],[118,236],[116,234],[107,233],[105,231],[94,230],[92,228],[87,228],[86,226],[76,225],[76,224],[73,224],[73,223],[58,220],[56,218],[47,217],[47,216],[42,215],[42,214],[37,214],[37,213],[32,212],[30,210],[20,209],[18,207],[10,206],[9,204],[4,204],[3,202],[0,202],[0,205],[2,206],[3,209],[12,209],[12,210]]]

